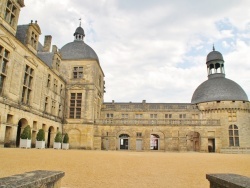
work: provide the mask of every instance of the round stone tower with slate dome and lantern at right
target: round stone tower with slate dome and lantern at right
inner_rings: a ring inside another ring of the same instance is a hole
[[[209,137],[213,135],[210,140],[218,152],[240,153],[247,150],[244,148],[250,147],[248,97],[239,84],[225,78],[223,56],[214,47],[207,55],[206,65],[208,80],[194,91],[191,103],[200,110],[201,119],[220,122],[220,131],[213,131],[214,125],[211,125],[211,131],[207,133],[208,145]]]

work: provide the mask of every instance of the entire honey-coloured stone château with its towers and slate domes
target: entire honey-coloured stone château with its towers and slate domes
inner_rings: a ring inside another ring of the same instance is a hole
[[[0,146],[19,147],[30,125],[33,147],[44,129],[47,148],[61,131],[75,149],[250,153],[248,97],[225,78],[220,52],[207,55],[208,79],[190,103],[104,102],[104,72],[83,28],[61,49],[50,35],[41,44],[37,21],[18,25],[22,7],[0,2]]]

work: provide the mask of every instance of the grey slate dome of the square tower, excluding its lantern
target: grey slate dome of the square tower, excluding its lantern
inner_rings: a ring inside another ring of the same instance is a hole
[[[60,50],[62,59],[94,59],[99,62],[95,51],[82,40],[74,40]]]

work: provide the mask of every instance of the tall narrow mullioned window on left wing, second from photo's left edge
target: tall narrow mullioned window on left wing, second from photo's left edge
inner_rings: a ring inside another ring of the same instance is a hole
[[[30,94],[31,94],[31,87],[32,87],[32,81],[33,81],[33,73],[34,69],[32,69],[30,66],[26,65],[25,67],[25,73],[24,73],[24,79],[23,79],[23,91],[22,91],[22,103],[29,104],[30,102]]]

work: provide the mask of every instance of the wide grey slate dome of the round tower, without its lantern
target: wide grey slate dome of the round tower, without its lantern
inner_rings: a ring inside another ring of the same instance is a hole
[[[248,97],[240,85],[225,78],[224,74],[213,74],[198,86],[191,103],[209,101],[248,101]]]

